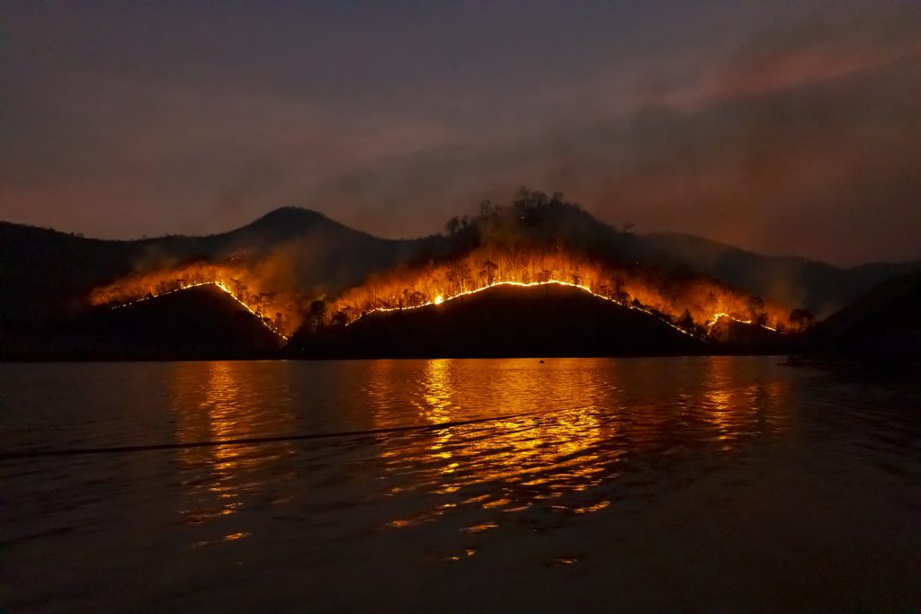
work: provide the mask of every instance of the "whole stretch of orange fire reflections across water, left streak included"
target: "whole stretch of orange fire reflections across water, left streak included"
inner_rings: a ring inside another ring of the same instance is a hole
[[[629,489],[653,496],[670,476],[661,466],[689,458],[676,453],[704,446],[725,466],[787,429],[788,384],[763,377],[764,361],[666,364],[385,360],[294,364],[281,378],[277,363],[180,364],[170,389],[179,443],[297,434],[298,422],[353,433],[178,448],[181,523],[208,527],[199,543],[239,539],[252,529],[241,512],[277,504],[323,522],[373,510],[375,527],[462,518],[472,536],[516,515],[599,513]],[[311,371],[325,375],[294,377]],[[298,386],[320,404],[295,403]],[[316,498],[330,488],[344,497],[334,514]]]

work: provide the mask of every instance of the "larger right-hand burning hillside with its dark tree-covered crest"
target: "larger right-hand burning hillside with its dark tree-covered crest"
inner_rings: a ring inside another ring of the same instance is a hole
[[[590,220],[590,222],[589,222]],[[804,320],[779,305],[705,275],[629,261],[629,228],[604,226],[562,196],[521,190],[512,203],[484,202],[478,215],[452,218],[454,250],[416,261],[314,304],[311,328],[344,326],[367,313],[438,305],[497,285],[561,284],[622,307],[639,309],[674,328],[706,337],[721,319],[772,331],[798,331]]]

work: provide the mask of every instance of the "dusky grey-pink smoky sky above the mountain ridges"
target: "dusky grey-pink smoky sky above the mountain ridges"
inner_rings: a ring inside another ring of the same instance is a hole
[[[382,237],[519,186],[843,266],[921,259],[921,3],[0,4],[0,219]]]

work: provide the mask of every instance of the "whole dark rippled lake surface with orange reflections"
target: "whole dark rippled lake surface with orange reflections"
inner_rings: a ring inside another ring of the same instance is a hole
[[[0,365],[7,455],[163,446],[0,459],[0,608],[914,611],[921,387],[777,362]]]

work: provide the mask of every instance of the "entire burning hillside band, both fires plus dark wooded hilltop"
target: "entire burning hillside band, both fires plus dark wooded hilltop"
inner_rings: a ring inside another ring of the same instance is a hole
[[[452,218],[446,229],[448,237],[426,244],[412,260],[329,300],[311,302],[307,288],[278,287],[258,274],[258,266],[225,261],[134,273],[93,290],[89,302],[122,307],[214,284],[287,339],[301,327],[334,330],[368,313],[439,305],[495,286],[559,284],[700,338],[710,337],[720,321],[777,332],[809,324],[803,310],[765,304],[699,273],[640,263],[630,251],[628,226],[600,224],[561,194],[521,189],[510,203],[481,203],[478,214]]]

